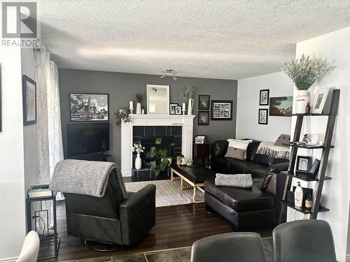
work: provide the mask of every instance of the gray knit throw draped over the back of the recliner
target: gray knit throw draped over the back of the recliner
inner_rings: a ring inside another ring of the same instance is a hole
[[[73,159],[60,161],[55,166],[49,188],[52,191],[102,198],[110,174],[116,175],[123,198],[126,198],[126,189],[120,168],[116,163],[111,162]]]

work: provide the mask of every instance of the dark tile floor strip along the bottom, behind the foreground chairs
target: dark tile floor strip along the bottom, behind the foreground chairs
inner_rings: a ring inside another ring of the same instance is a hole
[[[265,247],[265,261],[272,262],[272,238],[262,238]],[[64,262],[190,262],[191,247],[180,247],[124,256],[103,256],[91,259],[77,259]]]

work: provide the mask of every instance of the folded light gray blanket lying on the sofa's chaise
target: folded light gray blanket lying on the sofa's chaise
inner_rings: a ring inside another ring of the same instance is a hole
[[[251,188],[253,180],[251,174],[225,175],[217,173],[215,184],[216,186]]]

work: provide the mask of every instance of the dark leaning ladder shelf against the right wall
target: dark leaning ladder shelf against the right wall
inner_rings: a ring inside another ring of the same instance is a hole
[[[332,143],[332,136],[333,136],[334,125],[335,125],[335,118],[337,117],[337,111],[338,111],[338,105],[339,105],[339,94],[340,94],[339,89],[332,90],[332,99],[330,101],[329,113],[326,113],[326,114],[324,114],[324,113],[323,114],[312,114],[312,113],[311,114],[293,114],[294,116],[297,117],[297,121],[295,123],[294,137],[293,137],[293,141],[295,141],[295,142],[300,140],[300,134],[302,131],[302,122],[303,122],[304,117],[307,117],[307,116],[314,117],[314,116],[320,116],[320,115],[328,116],[328,122],[327,122],[327,127],[325,130],[325,139],[324,139],[324,143],[322,146],[296,145],[296,144],[290,145],[290,147],[292,147],[292,150],[290,152],[288,171],[281,172],[282,175],[286,175],[287,177],[286,177],[286,184],[285,184],[284,191],[283,191],[283,198],[281,201],[281,204],[284,206],[283,206],[283,208],[281,208],[281,214],[279,217],[280,223],[283,223],[284,221],[286,221],[287,207],[293,208],[294,210],[300,211],[304,214],[310,214],[310,219],[316,219],[318,212],[329,211],[328,208],[322,207],[320,205],[320,202],[321,202],[321,196],[322,196],[323,182],[324,182],[324,180],[331,179],[331,177],[328,177],[325,175],[325,170],[327,168],[330,149],[333,147],[331,145],[331,143]],[[307,175],[305,175],[305,176],[295,175],[294,167],[295,167],[295,160],[297,158],[298,148],[306,148],[306,149],[311,149],[311,150],[314,150],[314,149],[321,149],[322,150],[321,163],[320,163],[320,168],[318,170],[318,177],[316,177],[315,179],[311,179]],[[296,207],[293,202],[290,202],[287,200],[288,189],[290,189],[290,187],[292,185],[293,177],[300,179],[300,180],[307,181],[307,182],[310,182],[310,181],[316,182],[316,187],[315,187],[316,192],[314,194],[314,199],[313,199],[313,204],[312,204],[311,210],[304,208],[304,206],[302,208]]]

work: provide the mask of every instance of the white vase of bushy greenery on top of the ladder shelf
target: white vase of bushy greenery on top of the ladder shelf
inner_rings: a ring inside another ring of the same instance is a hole
[[[311,59],[304,54],[296,61],[285,62],[282,68],[298,90],[295,113],[304,114],[307,105],[310,103],[310,97],[307,90],[323,75],[333,68],[322,59]]]

